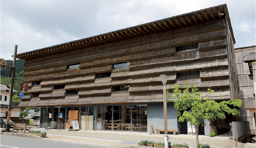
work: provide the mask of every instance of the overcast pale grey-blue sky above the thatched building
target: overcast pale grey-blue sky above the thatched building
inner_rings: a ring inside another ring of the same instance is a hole
[[[225,3],[235,48],[256,45],[256,0],[0,0],[0,58]]]

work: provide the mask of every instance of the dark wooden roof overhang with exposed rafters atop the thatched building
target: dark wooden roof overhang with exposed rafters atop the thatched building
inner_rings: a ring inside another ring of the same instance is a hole
[[[207,14],[206,11],[210,11],[210,13]],[[214,12],[217,11],[217,15],[216,13],[214,14],[213,11]],[[167,30],[169,28],[170,30],[172,30],[171,28],[176,28],[176,27],[179,28],[179,26],[181,27],[184,25],[187,26],[187,25],[193,24],[194,22],[198,24],[199,22],[208,21],[209,18],[215,19],[215,18],[221,17],[221,13],[225,14],[226,16],[226,19],[228,21],[228,27],[229,27],[229,30],[231,31],[232,39],[235,44],[235,38],[234,38],[234,34],[233,34],[233,30],[232,30],[232,26],[231,26],[229,14],[228,14],[228,7],[227,7],[227,4],[222,4],[222,5],[202,9],[202,10],[193,11],[190,13],[184,13],[181,15],[168,17],[162,20],[156,20],[156,21],[140,24],[133,27],[115,30],[105,34],[99,34],[92,37],[86,37],[79,40],[73,40],[70,42],[57,44],[50,47],[45,47],[37,50],[24,52],[21,54],[17,54],[17,58],[26,60],[32,57],[37,57],[36,54],[41,54],[41,55],[52,54],[53,52],[56,52],[56,50],[68,51],[70,49],[77,49],[77,48],[82,49],[83,47],[96,47],[97,45],[109,44],[109,43],[113,43],[114,41],[121,41],[124,39],[127,40],[127,38],[131,38],[131,37],[137,37],[137,36],[139,37],[141,35],[150,35],[152,32],[156,33],[157,31],[160,31],[160,30]],[[166,22],[166,24],[163,24],[163,22]]]

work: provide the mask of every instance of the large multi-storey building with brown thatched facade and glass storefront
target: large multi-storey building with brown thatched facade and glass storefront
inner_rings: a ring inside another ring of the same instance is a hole
[[[210,99],[238,98],[235,38],[227,5],[21,53],[29,90],[19,107],[41,107],[43,128],[147,131],[163,128],[163,84],[197,84]],[[168,129],[187,133],[167,104]],[[209,135],[211,125],[201,129]],[[156,132],[156,131],[154,131]]]

